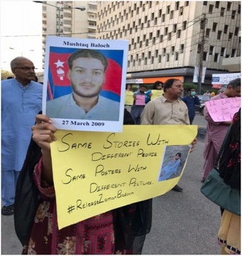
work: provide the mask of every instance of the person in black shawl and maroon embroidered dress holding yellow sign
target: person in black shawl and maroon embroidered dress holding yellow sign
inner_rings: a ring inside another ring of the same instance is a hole
[[[134,124],[125,109],[124,124]],[[37,115],[33,137],[17,184],[15,231],[23,254],[132,254],[133,237],[147,234],[146,202],[125,205],[59,230],[53,184],[50,143],[56,127],[46,115]],[[82,163],[80,163],[82,164]],[[80,188],[80,194],[85,193]]]

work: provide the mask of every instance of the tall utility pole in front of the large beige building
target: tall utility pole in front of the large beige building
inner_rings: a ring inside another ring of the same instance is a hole
[[[200,37],[199,44],[200,44],[200,54],[199,54],[199,75],[197,77],[198,82],[198,94],[201,94],[202,88],[202,69],[203,69],[203,53],[204,53],[204,44],[205,44],[205,24],[206,24],[206,14],[202,14],[202,19],[200,20],[200,31],[202,36]]]

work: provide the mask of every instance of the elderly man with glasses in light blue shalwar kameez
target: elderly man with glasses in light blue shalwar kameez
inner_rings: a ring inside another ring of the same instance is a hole
[[[42,110],[42,84],[33,81],[33,62],[17,57],[10,63],[15,78],[1,82],[1,198],[3,215],[14,212],[15,186],[31,139],[31,126]]]

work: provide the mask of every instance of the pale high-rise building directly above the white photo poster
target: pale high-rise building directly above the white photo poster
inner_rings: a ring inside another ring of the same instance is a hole
[[[95,1],[46,1],[42,3],[43,60],[47,35],[96,38],[97,4]]]

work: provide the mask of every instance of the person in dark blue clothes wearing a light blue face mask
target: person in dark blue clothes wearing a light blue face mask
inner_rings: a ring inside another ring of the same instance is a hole
[[[185,102],[188,108],[188,116],[190,120],[190,124],[192,124],[193,119],[195,117],[195,105],[200,106],[199,97],[196,96],[196,92],[194,88],[188,88],[186,90],[186,96],[182,98],[183,102]]]

